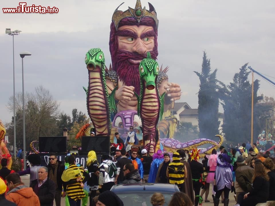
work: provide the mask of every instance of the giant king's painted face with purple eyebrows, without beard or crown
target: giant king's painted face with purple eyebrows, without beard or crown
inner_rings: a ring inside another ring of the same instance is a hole
[[[154,30],[152,26],[125,25],[118,28],[118,49],[137,54],[146,54],[154,49]],[[129,59],[132,64],[140,64]]]

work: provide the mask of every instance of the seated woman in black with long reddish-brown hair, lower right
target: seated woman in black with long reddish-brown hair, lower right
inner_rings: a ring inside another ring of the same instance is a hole
[[[255,163],[254,175],[252,177],[252,192],[240,193],[235,206],[256,206],[265,203],[269,196],[269,177],[265,173],[262,163]]]

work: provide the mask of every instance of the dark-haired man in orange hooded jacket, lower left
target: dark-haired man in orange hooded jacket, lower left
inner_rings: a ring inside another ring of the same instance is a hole
[[[39,199],[32,188],[21,182],[18,173],[9,174],[6,177],[9,192],[6,199],[14,202],[17,206],[40,206]]]

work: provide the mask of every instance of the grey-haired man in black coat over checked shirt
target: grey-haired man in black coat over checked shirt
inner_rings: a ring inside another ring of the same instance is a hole
[[[55,184],[48,178],[48,168],[40,167],[38,170],[38,179],[31,182],[30,187],[38,196],[40,206],[53,206],[55,196]]]

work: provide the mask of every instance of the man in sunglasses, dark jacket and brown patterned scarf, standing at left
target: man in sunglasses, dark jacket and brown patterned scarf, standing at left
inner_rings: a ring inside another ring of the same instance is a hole
[[[55,204],[56,206],[60,206],[61,204],[61,193],[62,193],[62,186],[64,188],[64,192],[62,197],[66,196],[66,185],[62,181],[61,176],[65,170],[65,166],[62,164],[61,161],[57,159],[56,153],[50,153],[50,162],[48,164],[48,178],[55,183]]]

